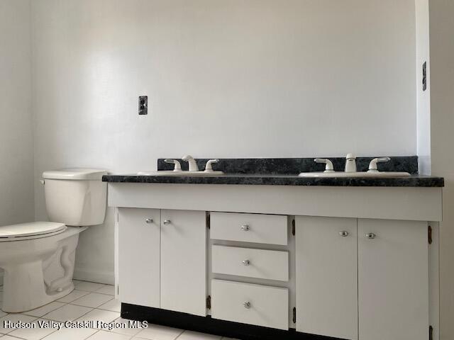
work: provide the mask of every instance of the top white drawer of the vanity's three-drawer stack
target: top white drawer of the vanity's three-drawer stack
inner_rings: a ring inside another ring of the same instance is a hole
[[[287,245],[287,216],[211,212],[211,239]]]

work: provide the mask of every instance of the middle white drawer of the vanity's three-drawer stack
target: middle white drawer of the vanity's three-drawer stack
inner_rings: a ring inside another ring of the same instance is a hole
[[[250,278],[289,280],[287,251],[248,249],[236,246],[213,246],[211,271]]]

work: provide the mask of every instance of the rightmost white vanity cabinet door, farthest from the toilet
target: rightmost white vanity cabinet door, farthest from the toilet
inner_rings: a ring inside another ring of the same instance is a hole
[[[427,223],[358,220],[358,288],[361,340],[428,339]]]

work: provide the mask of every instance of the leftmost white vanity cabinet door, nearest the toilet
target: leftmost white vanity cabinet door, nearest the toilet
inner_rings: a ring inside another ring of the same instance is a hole
[[[160,210],[118,209],[118,296],[160,307]]]

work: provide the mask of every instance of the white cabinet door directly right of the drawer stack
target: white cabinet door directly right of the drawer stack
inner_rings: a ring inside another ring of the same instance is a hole
[[[358,339],[357,220],[295,222],[297,331]]]

